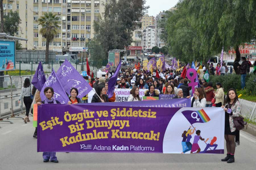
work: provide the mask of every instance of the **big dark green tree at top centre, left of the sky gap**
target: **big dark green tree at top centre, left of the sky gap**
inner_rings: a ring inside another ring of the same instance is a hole
[[[94,31],[97,43],[104,49],[105,59],[109,50],[124,49],[131,44],[133,31],[141,23],[138,21],[144,15],[146,0],[110,0],[105,4],[102,18],[94,21]]]

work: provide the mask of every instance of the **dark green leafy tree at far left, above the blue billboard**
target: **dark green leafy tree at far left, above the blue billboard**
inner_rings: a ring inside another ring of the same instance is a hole
[[[4,17],[4,29],[5,33],[10,36],[15,36],[19,32],[19,24],[21,20],[17,11],[10,11],[8,15]]]

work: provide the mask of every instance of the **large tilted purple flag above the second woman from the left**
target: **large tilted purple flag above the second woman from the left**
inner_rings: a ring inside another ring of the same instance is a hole
[[[79,98],[86,96],[92,90],[89,83],[86,82],[67,59],[65,59],[56,74],[60,80],[60,84],[69,95],[72,87],[77,88],[79,91],[79,94],[77,94]]]

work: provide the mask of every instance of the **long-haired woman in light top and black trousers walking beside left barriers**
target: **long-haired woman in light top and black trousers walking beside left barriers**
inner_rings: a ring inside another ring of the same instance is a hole
[[[25,104],[25,107],[26,107],[26,116],[24,118],[25,124],[27,124],[27,122],[30,122],[30,119],[28,118],[28,114],[30,113],[30,107],[31,107],[31,104],[32,104],[32,99],[30,97],[32,95],[31,91],[32,91],[32,87],[31,87],[30,79],[26,78],[24,80],[24,84],[23,84],[23,87],[22,87],[22,92],[19,96],[19,101],[18,101],[18,103],[20,103],[20,100],[24,96],[23,101],[24,101],[24,104]]]

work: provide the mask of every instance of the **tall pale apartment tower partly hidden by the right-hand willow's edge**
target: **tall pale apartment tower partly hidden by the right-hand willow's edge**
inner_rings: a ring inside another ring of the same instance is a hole
[[[158,15],[156,15],[155,18],[155,46],[158,46],[158,48],[162,48],[163,46],[165,46],[166,44],[164,43],[164,41],[162,39],[160,39],[160,36],[162,34],[162,29],[159,27],[159,22],[160,20],[164,19],[164,16],[166,15],[166,13],[163,12],[159,12]]]

